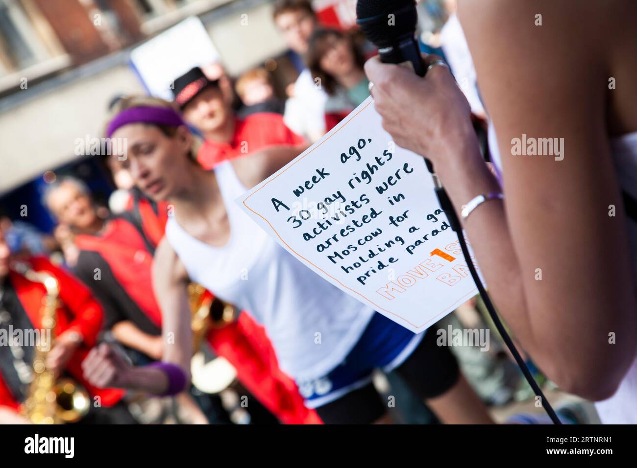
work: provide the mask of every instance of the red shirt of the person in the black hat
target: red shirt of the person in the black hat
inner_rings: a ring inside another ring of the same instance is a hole
[[[283,123],[283,116],[275,113],[256,113],[245,120],[236,118],[234,134],[229,143],[206,139],[197,160],[205,169],[212,169],[220,162],[248,155],[269,146],[299,146],[305,140]]]

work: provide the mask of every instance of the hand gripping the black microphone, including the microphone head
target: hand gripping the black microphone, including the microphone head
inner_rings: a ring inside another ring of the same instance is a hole
[[[359,0],[356,15],[378,47],[365,73],[383,128],[397,145],[424,156],[434,173],[432,162],[437,166],[460,153],[445,155],[454,143],[475,138],[466,97],[440,57],[420,53],[415,1]]]

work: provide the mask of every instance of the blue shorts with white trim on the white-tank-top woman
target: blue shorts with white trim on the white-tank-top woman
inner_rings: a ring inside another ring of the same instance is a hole
[[[371,383],[375,369],[403,364],[426,332],[415,334],[379,313],[371,318],[345,360],[322,378],[297,383],[305,406],[318,408]]]

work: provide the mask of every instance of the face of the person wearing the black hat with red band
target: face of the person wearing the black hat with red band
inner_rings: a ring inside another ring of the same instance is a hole
[[[233,111],[223,92],[210,86],[190,101],[182,110],[183,118],[201,131],[205,138],[228,141],[234,131]]]

